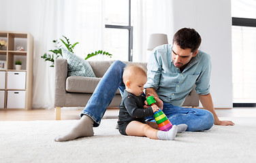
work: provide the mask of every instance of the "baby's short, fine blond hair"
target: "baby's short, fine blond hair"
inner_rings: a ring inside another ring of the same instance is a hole
[[[133,63],[127,65],[123,71],[123,82],[127,82],[130,77],[134,77],[135,75],[144,75],[146,77],[146,70],[138,64]]]

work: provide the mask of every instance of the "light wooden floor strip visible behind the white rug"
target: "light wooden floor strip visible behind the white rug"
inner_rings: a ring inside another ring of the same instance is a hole
[[[81,109],[61,110],[61,120],[79,120]],[[219,117],[256,117],[256,108],[216,109]],[[118,109],[107,109],[103,118],[117,118]],[[54,109],[1,110],[0,121],[55,120]]]

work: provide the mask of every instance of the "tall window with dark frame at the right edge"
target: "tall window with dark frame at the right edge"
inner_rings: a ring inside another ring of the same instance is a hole
[[[232,6],[232,69],[234,107],[256,103],[256,1],[234,0]]]

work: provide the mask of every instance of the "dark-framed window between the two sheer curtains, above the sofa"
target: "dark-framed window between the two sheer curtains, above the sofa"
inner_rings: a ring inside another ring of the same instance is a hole
[[[112,60],[132,61],[131,0],[108,0],[105,3],[104,49],[113,54]]]

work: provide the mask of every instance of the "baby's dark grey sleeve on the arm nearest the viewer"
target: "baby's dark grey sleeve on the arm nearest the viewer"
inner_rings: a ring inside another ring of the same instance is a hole
[[[131,115],[131,117],[133,118],[147,117],[153,115],[152,107],[148,107],[146,109],[138,108],[137,104],[135,103],[135,99],[132,96],[127,96],[123,102],[129,115]]]

